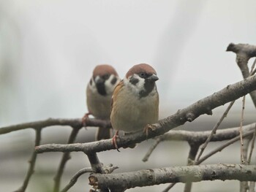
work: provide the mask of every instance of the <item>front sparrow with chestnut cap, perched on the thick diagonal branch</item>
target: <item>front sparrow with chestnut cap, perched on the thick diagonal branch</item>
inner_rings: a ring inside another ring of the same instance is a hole
[[[133,133],[159,118],[159,95],[157,72],[148,64],[132,66],[124,79],[116,85],[112,96],[110,122],[116,134],[112,139],[118,149],[118,131]]]

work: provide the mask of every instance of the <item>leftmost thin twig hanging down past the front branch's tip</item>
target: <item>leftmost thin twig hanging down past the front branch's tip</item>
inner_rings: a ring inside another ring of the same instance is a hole
[[[34,142],[34,146],[40,145],[40,140],[41,140],[41,128],[35,129],[36,132],[36,139]],[[31,178],[31,175],[34,173],[34,166],[36,164],[37,160],[37,153],[33,150],[33,153],[31,155],[31,159],[29,160],[29,170],[26,174],[25,180],[23,182],[23,185],[15,192],[24,192],[26,191],[27,186],[29,185],[29,180]]]

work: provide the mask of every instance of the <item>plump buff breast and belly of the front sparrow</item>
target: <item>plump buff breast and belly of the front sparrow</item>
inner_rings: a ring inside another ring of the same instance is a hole
[[[116,130],[135,132],[142,130],[147,124],[158,120],[158,93],[151,93],[146,97],[121,91],[113,103],[111,123]]]

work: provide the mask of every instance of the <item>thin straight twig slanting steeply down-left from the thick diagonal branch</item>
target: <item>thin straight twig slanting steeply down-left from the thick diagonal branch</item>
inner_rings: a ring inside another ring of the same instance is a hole
[[[203,154],[203,151],[206,149],[206,146],[211,141],[211,138],[214,136],[214,134],[216,134],[217,128],[219,128],[219,125],[222,123],[222,120],[224,120],[224,118],[227,117],[227,113],[230,111],[230,109],[233,106],[233,104],[235,103],[235,101],[230,102],[230,104],[227,107],[227,110],[225,110],[225,112],[223,113],[222,117],[219,119],[219,121],[216,123],[216,125],[212,129],[211,134],[206,139],[206,142],[203,144],[202,147],[200,147],[200,153],[199,153],[199,155],[197,155],[197,160],[196,161],[198,161],[199,158],[201,157],[201,155]]]

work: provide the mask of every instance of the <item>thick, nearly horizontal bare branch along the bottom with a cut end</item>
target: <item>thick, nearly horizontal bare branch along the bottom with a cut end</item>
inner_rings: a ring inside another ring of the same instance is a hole
[[[256,166],[240,164],[214,164],[200,166],[173,166],[162,169],[144,169],[120,174],[91,174],[89,184],[94,188],[128,188],[187,183],[202,180],[256,181]]]

